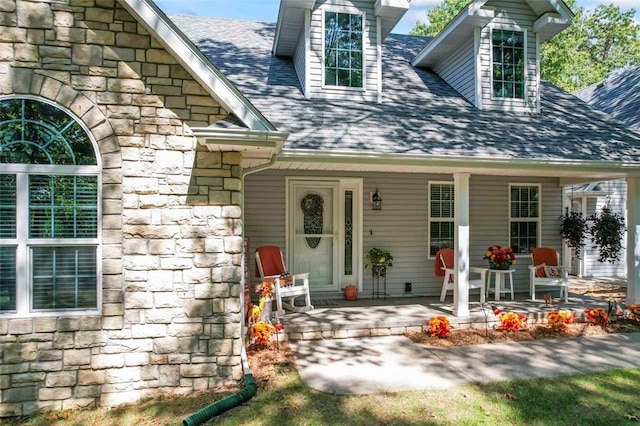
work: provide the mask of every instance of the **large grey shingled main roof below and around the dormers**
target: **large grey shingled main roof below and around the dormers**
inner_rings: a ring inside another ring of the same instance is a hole
[[[283,152],[382,153],[640,166],[640,134],[552,84],[541,113],[481,111],[435,73],[411,66],[428,41],[383,44],[383,102],[305,99],[291,60],[271,54],[275,24],[170,18],[280,131]]]

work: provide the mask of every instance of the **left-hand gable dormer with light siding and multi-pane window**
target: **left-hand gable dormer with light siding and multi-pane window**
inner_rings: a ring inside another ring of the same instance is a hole
[[[273,54],[293,59],[305,97],[380,102],[381,46],[408,0],[281,0]]]

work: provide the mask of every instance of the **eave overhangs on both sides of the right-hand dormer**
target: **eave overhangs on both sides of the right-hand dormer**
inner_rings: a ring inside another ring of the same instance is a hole
[[[534,32],[543,43],[571,25],[573,12],[563,0],[526,0],[533,13],[538,16]],[[486,7],[487,0],[473,0],[443,28],[411,61],[414,67],[433,68],[448,58],[464,42],[473,39],[475,28],[487,25],[495,16],[493,8]]]

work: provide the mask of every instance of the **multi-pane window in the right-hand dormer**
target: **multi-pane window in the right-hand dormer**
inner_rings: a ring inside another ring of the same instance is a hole
[[[524,99],[525,34],[521,31],[493,29],[493,96]]]

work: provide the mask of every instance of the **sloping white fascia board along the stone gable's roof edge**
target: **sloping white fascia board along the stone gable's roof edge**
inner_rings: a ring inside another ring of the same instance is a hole
[[[118,0],[227,111],[254,130],[276,130],[152,0]]]

